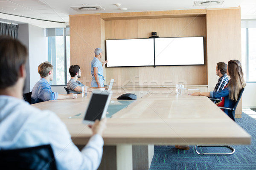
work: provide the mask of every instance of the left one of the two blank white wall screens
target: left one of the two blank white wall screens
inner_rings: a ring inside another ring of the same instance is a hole
[[[154,39],[106,40],[107,67],[153,66]]]

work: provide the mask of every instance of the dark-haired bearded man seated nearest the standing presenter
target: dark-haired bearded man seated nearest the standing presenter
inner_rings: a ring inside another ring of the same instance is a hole
[[[83,85],[81,82],[79,82],[77,79],[81,77],[81,69],[79,65],[71,65],[70,69],[70,81],[67,82],[67,89],[70,93],[76,93],[79,94],[82,92],[82,88],[85,85]]]

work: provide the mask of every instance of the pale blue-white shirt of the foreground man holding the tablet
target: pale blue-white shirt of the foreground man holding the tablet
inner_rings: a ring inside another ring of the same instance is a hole
[[[0,132],[0,150],[51,144],[61,170],[96,170],[101,162],[100,135],[92,136],[80,152],[55,113],[41,111],[12,96],[0,95]]]

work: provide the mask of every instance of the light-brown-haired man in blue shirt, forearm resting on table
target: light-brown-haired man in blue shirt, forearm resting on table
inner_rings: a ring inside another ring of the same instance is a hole
[[[49,62],[43,62],[38,66],[38,73],[41,79],[35,83],[32,95],[31,104],[45,102],[48,100],[60,100],[60,99],[74,99],[77,98],[77,94],[58,94],[53,92],[49,82],[53,79],[53,69]]]

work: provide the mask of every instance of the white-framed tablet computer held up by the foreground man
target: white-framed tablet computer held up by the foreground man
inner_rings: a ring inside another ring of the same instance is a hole
[[[101,120],[106,116],[111,94],[108,91],[93,91],[90,102],[85,111],[83,123],[93,125],[95,120]]]

